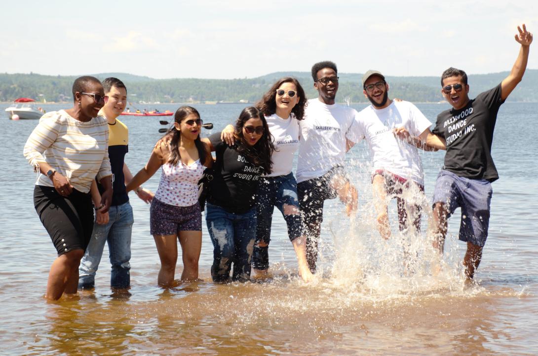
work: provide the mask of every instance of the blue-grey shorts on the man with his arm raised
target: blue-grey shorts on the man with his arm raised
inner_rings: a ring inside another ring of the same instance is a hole
[[[484,247],[490,224],[493,190],[485,179],[468,179],[448,170],[441,170],[435,182],[433,204],[447,204],[448,217],[462,209],[459,239]]]

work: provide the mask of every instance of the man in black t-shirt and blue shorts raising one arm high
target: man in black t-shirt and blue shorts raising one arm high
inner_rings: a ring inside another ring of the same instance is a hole
[[[444,138],[447,154],[437,177],[434,191],[436,247],[443,252],[447,220],[456,208],[462,209],[459,239],[466,241],[463,261],[469,280],[482,258],[490,218],[491,182],[499,178],[491,145],[499,107],[521,81],[527,67],[529,46],[533,40],[523,24],[515,40],[521,44],[510,74],[495,88],[469,99],[467,75],[449,68],[441,77],[441,92],[452,109],[437,116],[434,134]]]

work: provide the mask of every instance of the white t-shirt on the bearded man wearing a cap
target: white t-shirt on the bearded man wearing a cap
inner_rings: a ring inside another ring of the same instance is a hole
[[[393,129],[405,127],[412,136],[419,136],[431,126],[428,119],[412,103],[392,102],[384,109],[370,105],[357,116],[355,135],[365,139],[370,149],[373,170],[385,169],[405,179],[424,185],[424,173],[419,152],[394,136]],[[355,142],[358,142],[355,141]]]

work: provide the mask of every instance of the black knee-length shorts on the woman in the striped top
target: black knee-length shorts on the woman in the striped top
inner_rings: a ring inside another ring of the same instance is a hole
[[[94,226],[89,193],[73,189],[63,197],[52,187],[36,186],[34,207],[59,256],[77,249],[86,251]]]

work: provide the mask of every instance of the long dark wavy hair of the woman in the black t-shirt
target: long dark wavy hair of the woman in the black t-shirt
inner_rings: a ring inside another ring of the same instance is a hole
[[[243,126],[245,125],[245,122],[253,118],[258,118],[261,120],[264,126],[264,133],[261,135],[260,139],[255,145],[250,146],[243,136]],[[262,167],[265,174],[271,173],[271,167],[273,166],[271,155],[273,154],[274,146],[271,133],[269,133],[269,126],[267,126],[267,121],[265,120],[264,114],[254,106],[249,106],[243,109],[237,118],[234,133],[237,138],[237,152],[245,156],[249,162],[258,167]]]

